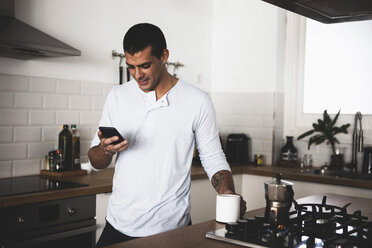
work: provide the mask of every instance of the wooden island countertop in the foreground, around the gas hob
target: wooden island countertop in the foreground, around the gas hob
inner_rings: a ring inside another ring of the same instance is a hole
[[[369,220],[372,219],[372,199],[365,199],[359,197],[342,196],[336,194],[319,194],[309,196],[297,200],[299,203],[321,203],[323,195],[327,196],[327,203],[331,205],[344,206],[347,203],[352,203],[348,208],[349,213],[356,210],[361,210],[362,215],[367,216]],[[264,215],[264,208],[249,211],[245,218],[253,217],[255,215]],[[217,240],[205,238],[205,233],[211,230],[222,228],[223,224],[217,223],[215,220],[203,222],[197,225],[179,228],[173,231],[168,231],[145,238],[131,240],[111,246],[109,248],[140,248],[140,247],[203,247],[203,248],[237,248],[240,246],[221,242]]]

